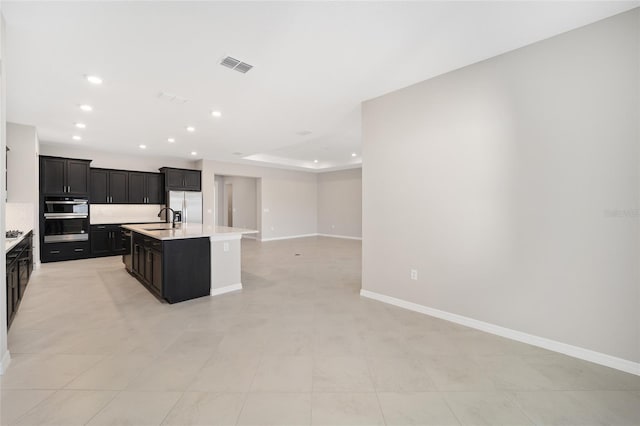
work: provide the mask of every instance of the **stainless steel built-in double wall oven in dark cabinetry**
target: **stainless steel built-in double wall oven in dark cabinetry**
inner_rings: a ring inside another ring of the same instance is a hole
[[[44,242],[89,240],[89,200],[80,197],[45,197]]]

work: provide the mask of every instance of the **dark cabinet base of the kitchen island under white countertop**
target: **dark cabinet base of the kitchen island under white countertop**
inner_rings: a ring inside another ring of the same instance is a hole
[[[158,240],[133,232],[132,274],[169,303],[211,292],[209,238]]]

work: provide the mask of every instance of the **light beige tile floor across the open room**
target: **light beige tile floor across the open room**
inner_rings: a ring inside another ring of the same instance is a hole
[[[117,257],[45,264],[0,423],[640,425],[640,377],[363,299],[360,267],[357,241],[244,240],[244,290],[169,305]]]

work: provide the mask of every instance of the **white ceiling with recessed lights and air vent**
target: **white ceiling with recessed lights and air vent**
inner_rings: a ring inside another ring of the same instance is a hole
[[[7,119],[37,126],[45,142],[124,154],[146,145],[150,155],[344,168],[361,162],[363,100],[638,4],[4,2]],[[220,66],[227,55],[254,68]]]

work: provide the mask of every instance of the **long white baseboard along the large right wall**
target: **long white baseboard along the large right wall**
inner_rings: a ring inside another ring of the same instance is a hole
[[[550,351],[559,352],[565,355],[590,361],[606,367],[615,368],[616,370],[640,376],[640,363],[618,358],[612,355],[596,352],[591,349],[581,348],[579,346],[569,345],[567,343],[558,342],[556,340],[547,339],[545,337],[535,336],[533,334],[524,333],[510,328],[501,327],[499,325],[488,322],[478,321],[473,318],[464,317],[462,315],[452,314],[450,312],[441,311],[439,309],[429,308],[417,303],[407,302],[406,300],[396,299],[395,297],[385,296],[384,294],[375,293],[369,290],[360,290],[360,295],[369,299],[378,300],[390,305],[409,309],[410,311],[420,312],[432,317],[451,321],[476,330],[486,331],[487,333],[506,337],[518,342],[527,343],[538,346]]]

